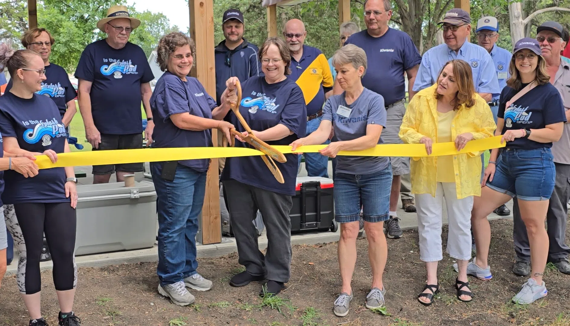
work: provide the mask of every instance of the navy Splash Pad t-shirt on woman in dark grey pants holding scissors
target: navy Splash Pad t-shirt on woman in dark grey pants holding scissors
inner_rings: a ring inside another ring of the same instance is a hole
[[[303,92],[292,79],[268,84],[263,76],[254,76],[242,84],[242,101],[239,113],[253,131],[263,131],[282,124],[293,132],[278,141],[267,141],[268,145],[289,145],[298,138],[305,137],[307,128],[307,107]],[[245,128],[233,112],[226,115],[235,129]],[[250,147],[247,143],[235,142],[236,147]],[[295,195],[298,158],[296,154],[286,154],[287,162],[278,163],[285,183],[279,183],[271,174],[260,156],[227,158],[222,172],[222,180],[234,179],[267,191]]]

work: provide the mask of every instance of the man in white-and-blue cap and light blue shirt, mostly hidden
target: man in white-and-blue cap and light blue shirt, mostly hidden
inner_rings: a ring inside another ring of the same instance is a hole
[[[511,62],[512,53],[496,45],[497,40],[499,40],[499,22],[495,17],[485,16],[478,20],[477,30],[475,30],[475,32],[477,32],[477,42],[479,46],[486,49],[493,59],[493,65],[495,66],[497,79],[499,80],[499,89],[503,90],[504,86],[507,86],[508,77],[511,76],[508,72],[508,65]],[[491,101],[488,102],[495,123],[497,122],[497,113],[499,112],[499,97],[499,95],[495,95]],[[499,216],[508,216],[511,214],[510,209],[508,209],[506,205],[500,205],[500,207],[493,212]]]

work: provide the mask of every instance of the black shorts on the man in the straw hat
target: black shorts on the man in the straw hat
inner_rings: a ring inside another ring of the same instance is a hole
[[[101,134],[99,148],[93,151],[136,150],[143,148],[143,133],[128,135]],[[105,175],[120,172],[143,172],[143,163],[105,164],[93,166],[93,174]]]

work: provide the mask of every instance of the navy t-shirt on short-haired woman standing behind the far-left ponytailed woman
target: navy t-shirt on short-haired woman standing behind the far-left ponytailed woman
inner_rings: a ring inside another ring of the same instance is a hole
[[[77,96],[77,92],[71,85],[70,77],[60,65],[50,63],[44,67],[46,69],[46,80],[42,81],[42,89],[36,92],[40,95],[51,97],[55,105],[58,106],[59,115],[63,118],[66,114],[67,102],[73,100]],[[6,92],[12,88],[12,79],[6,85]]]

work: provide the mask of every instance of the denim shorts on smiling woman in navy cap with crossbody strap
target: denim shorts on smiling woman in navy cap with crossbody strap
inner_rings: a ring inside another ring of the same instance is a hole
[[[495,176],[487,187],[520,200],[548,200],[554,190],[556,168],[550,148],[506,148],[496,163]]]

